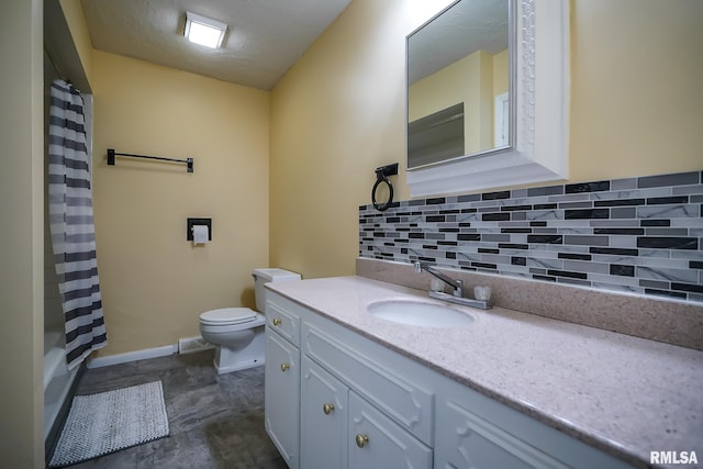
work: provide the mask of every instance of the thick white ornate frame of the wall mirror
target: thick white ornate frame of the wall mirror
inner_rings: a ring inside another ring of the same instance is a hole
[[[569,0],[516,2],[512,147],[410,169],[412,197],[567,179]]]

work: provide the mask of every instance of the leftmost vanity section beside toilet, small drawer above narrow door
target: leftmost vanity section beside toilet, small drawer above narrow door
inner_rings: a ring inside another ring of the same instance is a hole
[[[300,457],[300,316],[266,304],[265,427],[288,467]]]

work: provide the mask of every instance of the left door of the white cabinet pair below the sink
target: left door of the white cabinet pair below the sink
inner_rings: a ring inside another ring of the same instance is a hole
[[[348,388],[309,357],[302,357],[300,467],[346,467]]]

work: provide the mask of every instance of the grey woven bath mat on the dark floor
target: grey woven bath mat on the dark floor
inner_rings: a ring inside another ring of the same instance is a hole
[[[160,381],[76,395],[49,467],[97,458],[168,436]]]

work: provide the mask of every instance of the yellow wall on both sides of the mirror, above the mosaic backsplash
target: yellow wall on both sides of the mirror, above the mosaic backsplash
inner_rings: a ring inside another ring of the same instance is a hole
[[[409,199],[404,35],[420,0],[354,0],[271,98],[272,265],[354,273],[377,166]],[[703,2],[571,1],[570,181],[701,169]],[[428,18],[428,16],[427,16]]]

